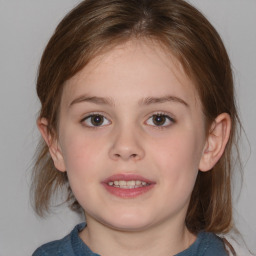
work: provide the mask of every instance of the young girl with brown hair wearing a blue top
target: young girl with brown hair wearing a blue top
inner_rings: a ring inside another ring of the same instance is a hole
[[[58,25],[37,81],[44,139],[35,209],[52,195],[82,223],[40,255],[228,255],[230,61],[182,0],[85,0]]]

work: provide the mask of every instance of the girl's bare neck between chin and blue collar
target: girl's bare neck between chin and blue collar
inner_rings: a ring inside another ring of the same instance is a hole
[[[104,256],[175,255],[196,239],[185,224],[177,225],[177,222],[174,225],[161,223],[141,231],[120,231],[90,217],[80,237],[92,251]]]

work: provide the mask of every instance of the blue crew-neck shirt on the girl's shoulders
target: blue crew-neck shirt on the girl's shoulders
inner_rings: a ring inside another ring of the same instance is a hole
[[[99,256],[79,237],[85,223],[77,225],[73,231],[61,240],[39,247],[32,256]],[[227,256],[222,240],[213,233],[200,232],[196,241],[176,256]]]

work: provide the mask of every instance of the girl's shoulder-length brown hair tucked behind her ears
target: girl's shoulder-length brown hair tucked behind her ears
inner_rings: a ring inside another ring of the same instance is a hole
[[[182,0],[85,0],[58,25],[41,59],[37,94],[39,118],[48,120],[49,132],[58,133],[58,111],[65,81],[92,58],[132,38],[148,38],[169,49],[194,81],[209,125],[226,112],[232,130],[225,152],[215,167],[198,174],[186,216],[191,232],[227,232],[232,227],[231,151],[239,122],[230,61],[220,36],[208,20]],[[52,195],[64,187],[72,209],[80,206],[66,173],[54,167],[41,141],[33,173],[35,210],[43,215]]]

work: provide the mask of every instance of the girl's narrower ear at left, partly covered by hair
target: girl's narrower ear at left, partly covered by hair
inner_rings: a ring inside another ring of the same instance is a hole
[[[61,172],[66,171],[64,158],[61,152],[57,138],[53,138],[49,131],[48,121],[46,118],[40,118],[37,120],[37,127],[44,138],[46,144],[49,147],[49,152],[54,162],[54,166]]]

